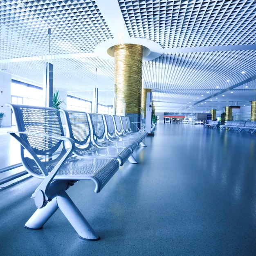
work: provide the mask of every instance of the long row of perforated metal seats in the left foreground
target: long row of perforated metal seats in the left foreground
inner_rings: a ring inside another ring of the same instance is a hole
[[[61,209],[79,236],[99,236],[65,192],[79,180],[92,180],[94,192],[103,189],[119,166],[128,159],[146,132],[132,132],[127,117],[63,110],[67,122],[64,136],[60,112],[55,108],[8,104],[16,117],[18,132],[9,132],[21,147],[22,164],[41,184],[32,195],[36,212],[25,224],[41,229]]]

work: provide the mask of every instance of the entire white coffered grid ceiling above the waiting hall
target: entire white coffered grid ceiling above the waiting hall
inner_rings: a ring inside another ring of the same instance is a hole
[[[256,100],[255,0],[1,0],[0,33],[1,70],[42,84],[49,61],[54,88],[90,99],[97,87],[106,105],[114,58],[104,47],[136,40],[151,51],[143,87],[157,112]]]

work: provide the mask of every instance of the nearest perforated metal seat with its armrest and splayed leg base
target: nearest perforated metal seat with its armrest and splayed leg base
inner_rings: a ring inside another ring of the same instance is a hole
[[[81,238],[99,240],[65,191],[79,180],[92,180],[94,192],[99,193],[117,172],[118,160],[72,157],[75,142],[64,136],[60,113],[55,108],[8,105],[18,128],[18,132],[9,133],[21,144],[22,164],[31,175],[42,179],[32,195],[38,209],[25,227],[41,229],[59,208]]]

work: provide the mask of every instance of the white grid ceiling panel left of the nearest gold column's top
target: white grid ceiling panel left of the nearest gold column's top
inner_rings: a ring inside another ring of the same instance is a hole
[[[0,1],[1,59],[93,52],[112,38],[94,1],[23,3],[20,7],[17,1]]]

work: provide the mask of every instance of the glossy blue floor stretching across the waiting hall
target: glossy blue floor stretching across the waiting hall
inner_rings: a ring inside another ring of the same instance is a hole
[[[0,191],[1,255],[256,255],[256,135],[157,124],[99,193],[67,193],[101,237],[78,237],[61,211],[23,227],[39,180]],[[3,154],[2,154],[3,155]]]

